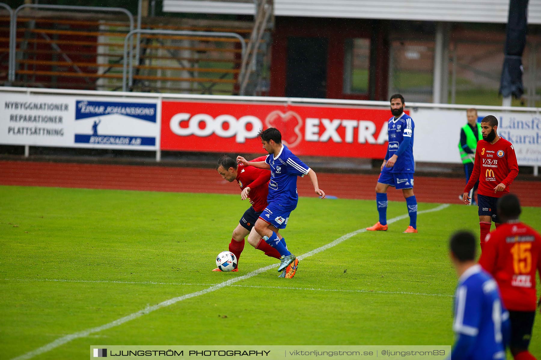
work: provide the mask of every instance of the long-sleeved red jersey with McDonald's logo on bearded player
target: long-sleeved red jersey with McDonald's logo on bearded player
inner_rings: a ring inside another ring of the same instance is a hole
[[[499,138],[494,144],[486,140],[479,140],[473,172],[464,192],[469,192],[479,179],[478,194],[500,198],[509,193],[509,185],[517,175],[517,156],[514,154],[511,142],[504,138]],[[505,190],[495,193],[494,188],[500,183],[505,184]]]

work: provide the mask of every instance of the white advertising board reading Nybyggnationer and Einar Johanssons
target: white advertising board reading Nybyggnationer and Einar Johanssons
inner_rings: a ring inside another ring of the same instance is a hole
[[[157,150],[158,99],[0,93],[0,144]]]

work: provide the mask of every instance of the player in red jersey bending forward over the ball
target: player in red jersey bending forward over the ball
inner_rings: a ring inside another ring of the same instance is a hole
[[[265,161],[265,158],[266,156],[262,156],[253,161]],[[229,251],[235,254],[237,258],[237,268],[233,271],[238,271],[239,258],[244,249],[246,235],[248,235],[248,243],[254,248],[261,250],[267,256],[280,259],[278,250],[261,239],[261,236],[254,229],[254,224],[259,215],[267,207],[268,182],[271,179],[271,172],[253,166],[237,164],[235,160],[227,156],[218,161],[216,169],[223,179],[229,182],[236,180],[242,190],[241,200],[248,199],[252,204],[242,215],[239,225],[233,230],[231,242],[229,243]],[[216,268],[213,271],[221,270]]]

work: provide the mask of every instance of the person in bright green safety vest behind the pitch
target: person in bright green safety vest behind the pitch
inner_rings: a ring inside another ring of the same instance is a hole
[[[466,117],[468,122],[460,129],[460,141],[458,142],[458,150],[460,152],[460,159],[464,165],[464,173],[466,175],[466,184],[470,180],[470,175],[473,171],[473,162],[475,157],[475,151],[477,147],[477,141],[483,139],[481,134],[481,126],[477,123],[477,110],[469,108],[466,110]],[[470,198],[472,198],[472,204],[477,205],[477,196],[474,198],[474,194],[477,194],[477,187],[479,181],[473,186]],[[462,195],[459,196],[462,199]]]

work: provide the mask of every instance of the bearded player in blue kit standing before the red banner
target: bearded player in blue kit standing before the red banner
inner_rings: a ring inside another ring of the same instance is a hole
[[[393,117],[387,124],[389,145],[378,183],[375,186],[375,201],[378,207],[379,221],[367,230],[387,230],[387,188],[394,186],[402,189],[406,199],[407,211],[410,214],[410,226],[404,233],[417,233],[417,199],[413,194],[413,130],[415,124],[410,116],[404,113],[404,97],[400,94],[391,96],[391,113]]]

